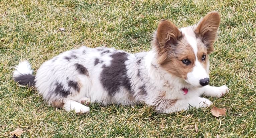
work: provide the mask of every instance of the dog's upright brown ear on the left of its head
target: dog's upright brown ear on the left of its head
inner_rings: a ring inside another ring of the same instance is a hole
[[[168,57],[168,51],[182,37],[179,31],[171,21],[162,20],[156,31],[156,49],[158,53],[158,63],[162,64]]]

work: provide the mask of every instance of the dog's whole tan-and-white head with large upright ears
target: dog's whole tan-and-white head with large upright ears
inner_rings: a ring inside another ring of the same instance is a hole
[[[153,40],[157,62],[170,74],[195,87],[209,84],[209,54],[220,25],[220,14],[208,13],[196,25],[177,28],[162,20]]]

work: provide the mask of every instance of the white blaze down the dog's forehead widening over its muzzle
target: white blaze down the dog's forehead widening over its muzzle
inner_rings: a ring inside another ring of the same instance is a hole
[[[200,85],[200,80],[209,78],[208,72],[205,70],[203,65],[198,60],[198,57],[197,57],[198,47],[197,47],[196,37],[188,35],[185,31],[184,31],[184,34],[188,43],[193,48],[194,54],[196,56],[195,66],[193,67],[193,70],[187,74],[186,82],[195,87],[202,87],[202,85]]]

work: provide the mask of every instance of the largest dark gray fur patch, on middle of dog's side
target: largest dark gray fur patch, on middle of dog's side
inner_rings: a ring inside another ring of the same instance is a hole
[[[133,94],[130,79],[127,76],[125,61],[128,60],[128,54],[117,52],[110,55],[113,59],[109,66],[103,65],[101,72],[101,84],[108,91],[110,96],[114,96],[120,90],[120,87],[126,88]]]

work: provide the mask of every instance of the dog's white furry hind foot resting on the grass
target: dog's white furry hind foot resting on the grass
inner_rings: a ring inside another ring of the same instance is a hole
[[[73,110],[76,113],[89,113],[90,112],[89,107],[87,107],[79,102],[76,102],[74,100],[65,100],[62,108],[68,112],[73,111]]]

